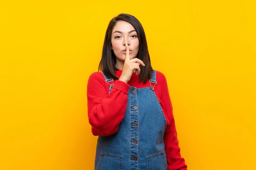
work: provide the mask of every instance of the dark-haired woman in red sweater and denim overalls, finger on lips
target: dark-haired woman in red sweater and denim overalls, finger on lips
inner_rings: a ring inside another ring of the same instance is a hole
[[[87,84],[89,123],[99,136],[95,170],[186,170],[166,77],[151,67],[137,18],[110,21],[99,70]]]

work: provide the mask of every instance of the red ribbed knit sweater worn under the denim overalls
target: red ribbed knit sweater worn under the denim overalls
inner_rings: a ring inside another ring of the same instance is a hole
[[[120,77],[122,71],[117,70],[116,76]],[[157,85],[154,87],[155,94],[166,117],[167,127],[164,133],[164,144],[168,170],[186,170],[185,160],[180,156],[175,121],[172,113],[172,103],[166,77],[160,71],[156,71]],[[94,72],[90,75],[87,84],[88,118],[92,126],[92,133],[95,136],[109,136],[116,133],[119,124],[125,116],[130,85],[136,88],[149,87],[139,82],[139,75],[132,74],[129,82],[114,80],[114,86],[109,92],[109,85],[101,72]],[[112,82],[111,82],[112,84]],[[152,84],[152,83],[151,83]],[[152,84],[154,86],[154,84]]]

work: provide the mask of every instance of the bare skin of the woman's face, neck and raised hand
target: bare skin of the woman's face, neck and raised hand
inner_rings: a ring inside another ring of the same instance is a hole
[[[118,21],[112,30],[111,44],[116,56],[116,68],[122,70],[119,80],[127,83],[133,72],[140,74],[140,65],[145,66],[142,60],[136,58],[139,51],[137,32],[130,23]],[[124,54],[122,51],[125,49]]]

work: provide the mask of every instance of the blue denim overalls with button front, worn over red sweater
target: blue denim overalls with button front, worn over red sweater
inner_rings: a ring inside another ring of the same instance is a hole
[[[102,74],[106,83],[113,82]],[[163,141],[166,118],[151,86],[157,83],[155,70],[149,83],[145,88],[130,86],[118,132],[98,138],[95,170],[167,170]]]

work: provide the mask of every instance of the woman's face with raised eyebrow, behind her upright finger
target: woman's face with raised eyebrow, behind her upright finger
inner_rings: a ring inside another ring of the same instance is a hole
[[[125,44],[129,45],[130,59],[137,56],[139,51],[139,39],[134,27],[125,21],[118,21],[112,30],[111,49],[116,55],[116,61],[125,62]]]

